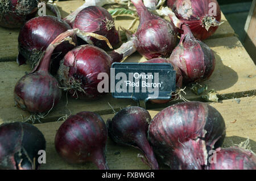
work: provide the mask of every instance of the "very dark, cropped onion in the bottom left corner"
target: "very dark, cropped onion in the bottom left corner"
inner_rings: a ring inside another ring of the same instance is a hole
[[[0,169],[39,169],[39,150],[46,150],[46,140],[34,125],[5,123],[0,125]]]

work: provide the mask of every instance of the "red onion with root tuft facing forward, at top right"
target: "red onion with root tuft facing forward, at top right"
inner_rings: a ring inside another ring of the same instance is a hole
[[[221,10],[216,0],[168,0],[167,6],[181,22],[188,24],[197,39],[207,39],[220,26]],[[215,8],[216,11],[213,11]],[[210,23],[211,18],[215,18],[213,23]],[[207,23],[211,25],[209,30]]]

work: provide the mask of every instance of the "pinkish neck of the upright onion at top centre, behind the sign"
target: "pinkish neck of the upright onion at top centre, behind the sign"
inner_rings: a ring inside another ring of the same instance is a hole
[[[152,14],[147,10],[147,7],[143,4],[142,0],[131,0],[131,2],[137,10],[140,23],[146,22],[146,20],[150,19]]]

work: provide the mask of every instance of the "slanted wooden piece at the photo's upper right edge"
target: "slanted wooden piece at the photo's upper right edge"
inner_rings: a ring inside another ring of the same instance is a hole
[[[251,3],[251,10],[245,24],[245,48],[256,64],[256,0]]]

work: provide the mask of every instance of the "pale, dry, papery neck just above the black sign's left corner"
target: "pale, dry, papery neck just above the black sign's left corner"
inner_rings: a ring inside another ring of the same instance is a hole
[[[109,52],[109,56],[112,58],[112,63],[121,62],[124,58],[130,56],[134,52],[136,52],[136,48],[134,44],[134,39],[131,38],[131,40],[123,43],[118,49]]]

